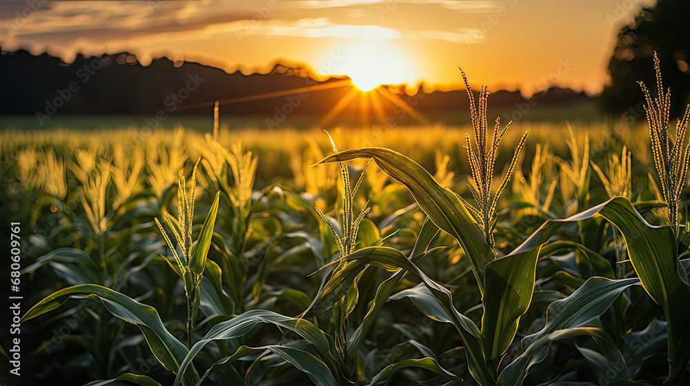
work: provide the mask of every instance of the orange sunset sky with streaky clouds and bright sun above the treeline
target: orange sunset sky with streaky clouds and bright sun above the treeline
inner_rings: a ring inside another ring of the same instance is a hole
[[[0,3],[3,50],[128,51],[245,74],[280,61],[355,83],[600,92],[620,27],[655,0],[201,0]]]

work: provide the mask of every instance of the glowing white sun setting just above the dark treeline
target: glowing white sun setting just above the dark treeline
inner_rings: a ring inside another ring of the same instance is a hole
[[[382,84],[415,83],[413,61],[387,42],[351,43],[339,50],[342,60],[329,68],[331,74],[345,74],[362,92]],[[331,62],[333,63],[333,62]]]

